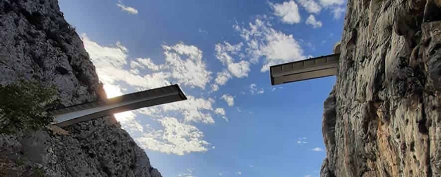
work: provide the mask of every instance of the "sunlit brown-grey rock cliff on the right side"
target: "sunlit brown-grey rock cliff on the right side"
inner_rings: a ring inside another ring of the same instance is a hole
[[[441,176],[441,1],[348,0],[322,177]]]

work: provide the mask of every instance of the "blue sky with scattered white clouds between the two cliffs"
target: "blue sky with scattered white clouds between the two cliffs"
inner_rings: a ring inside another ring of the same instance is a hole
[[[329,55],[345,0],[60,0],[108,97],[178,84],[188,100],[115,114],[164,177],[318,177],[335,77],[271,86]]]

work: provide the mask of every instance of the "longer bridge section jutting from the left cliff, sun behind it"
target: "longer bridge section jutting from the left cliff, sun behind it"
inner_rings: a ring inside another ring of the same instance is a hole
[[[186,99],[179,86],[172,85],[55,109],[49,114],[56,119],[54,125],[66,127],[119,112]]]

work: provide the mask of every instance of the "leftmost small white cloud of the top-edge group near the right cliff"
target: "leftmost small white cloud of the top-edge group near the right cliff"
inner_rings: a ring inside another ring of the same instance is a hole
[[[270,6],[274,8],[274,14],[281,17],[283,22],[288,24],[300,22],[299,7],[294,0],[283,3],[270,3]]]

